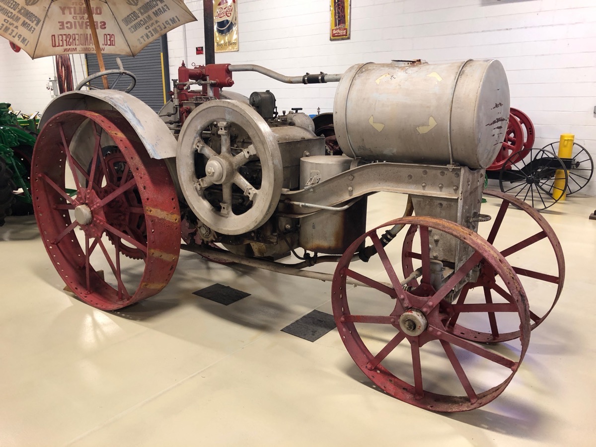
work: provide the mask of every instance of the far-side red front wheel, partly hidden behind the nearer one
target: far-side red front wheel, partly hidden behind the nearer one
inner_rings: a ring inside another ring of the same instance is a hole
[[[534,330],[547,318],[563,290],[565,259],[561,244],[552,227],[529,204],[513,195],[501,193],[501,191],[484,191],[484,194],[498,198],[501,203],[498,210],[491,213],[493,224],[490,228],[488,226],[485,228],[484,224],[480,224],[480,229],[486,230],[486,240],[493,244],[510,262],[522,285],[526,284],[526,290],[533,291],[535,297],[529,297],[528,304],[530,307],[530,330]],[[520,213],[523,212],[529,215],[535,224],[527,222],[527,219],[520,222]],[[516,225],[519,228],[517,233],[499,232],[504,221],[510,226]],[[421,259],[420,247],[413,247],[417,231],[416,226],[410,226],[403,241],[402,270],[404,277],[412,274],[420,263],[414,265],[414,259]],[[540,262],[537,262],[538,259]],[[544,265],[548,265],[548,267],[545,268]],[[484,267],[485,265],[483,265]],[[492,273],[490,267],[487,269]],[[471,303],[474,297],[480,299],[482,303],[493,302],[493,300],[502,301],[502,298],[499,298],[502,297],[500,285],[495,283],[494,277],[483,273],[481,272],[476,282],[465,285],[458,296],[457,304]],[[408,285],[418,287],[418,281],[411,280]],[[468,291],[476,287],[482,288],[484,294],[479,296],[479,294],[470,293],[468,296]],[[471,336],[467,334],[460,334],[460,336],[474,342],[487,343],[516,339],[520,336],[519,328],[511,327],[506,318],[505,321],[497,319],[504,316],[499,313],[485,312],[484,321],[470,321],[476,330],[470,333]],[[458,315],[454,315],[448,325],[454,327],[456,322],[460,326],[467,327],[467,316],[459,319]],[[505,330],[505,327],[514,330]]]

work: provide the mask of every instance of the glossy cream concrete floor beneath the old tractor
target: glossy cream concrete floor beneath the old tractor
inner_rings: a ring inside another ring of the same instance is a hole
[[[404,204],[371,197],[368,228]],[[489,199],[483,210],[496,207]],[[502,395],[458,414],[379,392],[337,330],[314,343],[280,331],[313,309],[331,313],[330,283],[183,253],[162,293],[98,311],[63,291],[35,219],[9,218],[0,228],[0,446],[594,445],[595,208],[596,198],[569,197],[543,213],[566,256],[563,293]],[[500,235],[520,240],[532,221],[508,213]],[[536,247],[525,262],[552,269],[546,252]],[[222,306],[192,294],[214,283],[250,296]],[[524,286],[530,303],[548,292]]]

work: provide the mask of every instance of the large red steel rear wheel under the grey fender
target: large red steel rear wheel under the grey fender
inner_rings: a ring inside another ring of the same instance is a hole
[[[91,132],[95,141],[89,173],[70,145],[79,129]],[[110,154],[101,151],[100,139],[106,135],[118,149],[114,153],[122,175],[110,173]],[[178,200],[166,164],[148,156],[126,119],[107,110],[60,113],[42,129],[32,163],[33,208],[42,240],[58,274],[79,299],[114,310],[166,286],[180,251]],[[75,186],[73,197],[66,185]],[[131,237],[130,215],[144,221],[144,243]],[[114,244],[111,254],[108,240]],[[120,259],[122,244],[138,249],[141,259]],[[106,272],[105,280],[98,270]]]

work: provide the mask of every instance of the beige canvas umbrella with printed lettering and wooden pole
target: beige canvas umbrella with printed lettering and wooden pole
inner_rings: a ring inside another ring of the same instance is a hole
[[[134,56],[197,20],[183,0],[0,0],[0,19],[0,36],[33,59],[95,52],[102,72],[102,53]]]

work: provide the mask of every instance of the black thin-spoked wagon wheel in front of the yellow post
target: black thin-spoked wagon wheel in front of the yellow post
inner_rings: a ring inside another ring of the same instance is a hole
[[[513,154],[499,172],[499,187],[504,193],[527,201],[537,210],[557,203],[567,190],[567,170],[563,161],[544,149],[530,149],[529,161],[513,166]],[[558,194],[553,193],[555,191]]]

